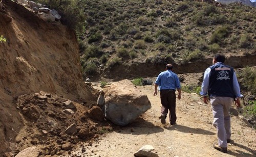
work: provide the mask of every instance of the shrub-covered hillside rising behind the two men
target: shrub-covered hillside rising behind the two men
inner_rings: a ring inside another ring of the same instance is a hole
[[[169,62],[178,73],[202,72],[195,64],[208,66],[216,53],[230,56],[236,68],[255,66],[246,60],[255,59],[253,7],[153,0],[86,1],[86,6],[87,26],[78,36],[84,79],[156,76]]]

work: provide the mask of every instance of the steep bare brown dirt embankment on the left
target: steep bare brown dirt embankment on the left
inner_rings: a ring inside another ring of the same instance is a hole
[[[39,19],[24,6],[2,1],[0,6],[0,156],[24,122],[13,99],[45,91],[65,98],[93,100],[82,81],[75,33],[59,22]]]

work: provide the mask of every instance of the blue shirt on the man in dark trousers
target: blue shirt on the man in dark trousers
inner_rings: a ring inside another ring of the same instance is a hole
[[[176,90],[181,88],[179,77],[172,70],[161,72],[157,76],[155,84],[159,86],[160,91],[165,89]]]

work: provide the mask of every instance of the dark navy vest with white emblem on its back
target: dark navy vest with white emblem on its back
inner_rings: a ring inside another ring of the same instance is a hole
[[[234,70],[223,63],[210,66],[209,96],[236,97],[233,90]]]

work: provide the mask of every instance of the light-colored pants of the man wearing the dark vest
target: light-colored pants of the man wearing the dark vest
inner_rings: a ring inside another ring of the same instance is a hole
[[[227,147],[227,139],[231,137],[229,109],[233,98],[212,96],[210,103],[214,115],[213,125],[217,128],[218,144],[220,147]]]

